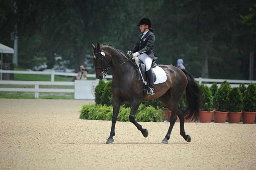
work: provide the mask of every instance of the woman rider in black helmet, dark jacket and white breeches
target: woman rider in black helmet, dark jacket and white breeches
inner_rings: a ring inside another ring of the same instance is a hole
[[[155,35],[151,27],[151,21],[148,18],[142,18],[138,24],[140,26],[140,34],[136,45],[133,49],[127,52],[127,55],[132,53],[133,57],[138,57],[146,65],[146,75],[148,78],[148,96],[154,95],[154,79],[151,68],[152,61],[155,58],[153,53],[153,45],[155,42]]]

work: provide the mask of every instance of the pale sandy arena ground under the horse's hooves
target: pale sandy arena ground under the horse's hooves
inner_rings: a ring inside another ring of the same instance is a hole
[[[256,124],[185,123],[192,141],[169,123],[80,120],[84,100],[0,99],[0,169],[255,169]]]

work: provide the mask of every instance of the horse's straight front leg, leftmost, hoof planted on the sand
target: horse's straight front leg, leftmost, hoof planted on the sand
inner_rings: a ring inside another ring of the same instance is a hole
[[[114,101],[114,99],[113,99]],[[110,136],[108,137],[107,144],[114,142],[113,136],[115,136],[115,126],[116,126],[116,119],[119,113],[120,109],[120,103],[115,102],[113,103],[113,115],[112,115],[112,124],[111,124],[111,131],[110,131]]]

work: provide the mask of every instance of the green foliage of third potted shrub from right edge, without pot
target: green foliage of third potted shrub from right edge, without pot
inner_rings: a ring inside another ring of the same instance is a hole
[[[214,107],[217,111],[228,111],[230,84],[227,81],[222,82],[220,88],[216,91],[214,96]]]

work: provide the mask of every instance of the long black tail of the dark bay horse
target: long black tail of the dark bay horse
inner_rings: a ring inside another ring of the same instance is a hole
[[[188,78],[188,85],[186,87],[186,119],[198,119],[201,102],[201,90],[194,77],[186,69],[182,69],[182,71]]]

